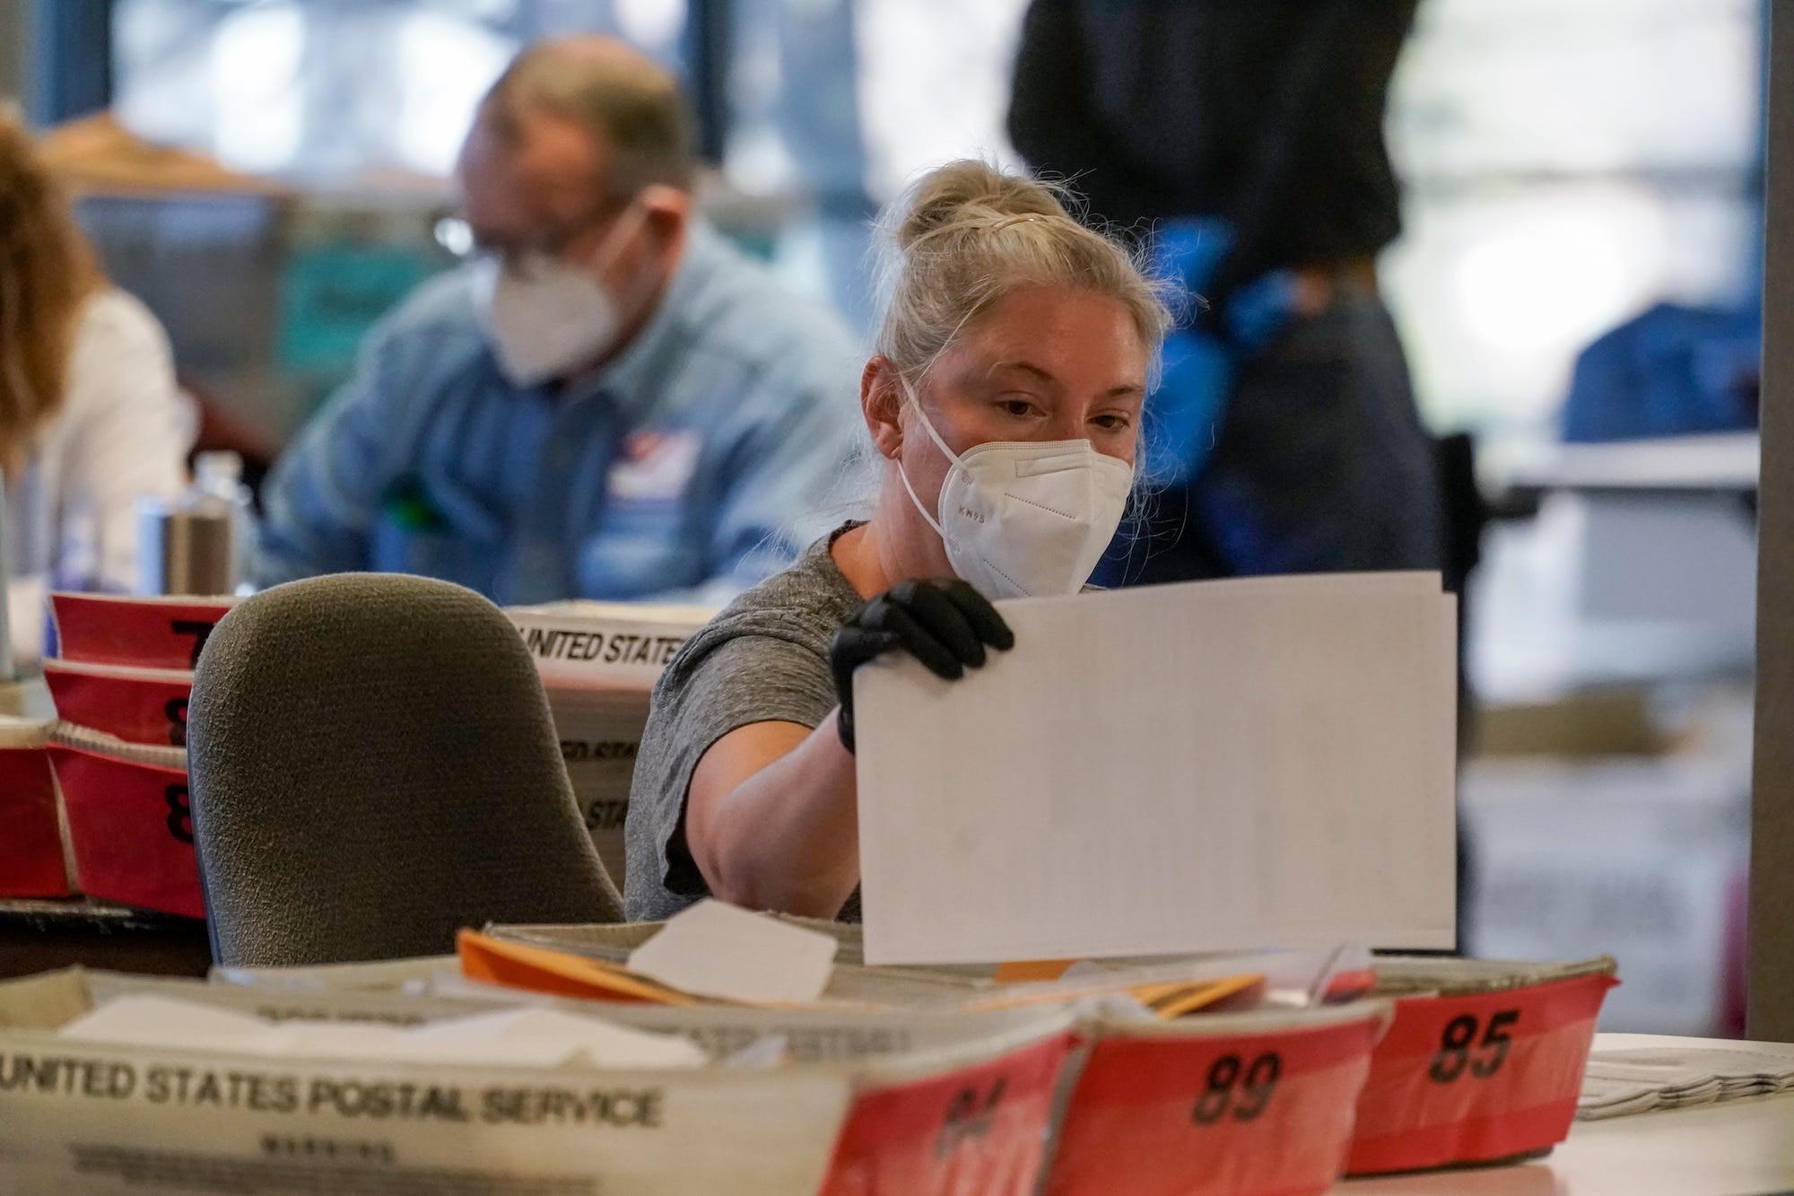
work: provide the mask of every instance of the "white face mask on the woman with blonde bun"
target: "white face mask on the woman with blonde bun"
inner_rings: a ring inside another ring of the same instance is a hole
[[[922,519],[940,533],[947,562],[985,598],[1075,594],[1121,526],[1134,470],[1089,440],[1001,442],[954,454],[929,424],[915,391],[910,406],[951,462],[940,483],[940,517],[897,476]]]

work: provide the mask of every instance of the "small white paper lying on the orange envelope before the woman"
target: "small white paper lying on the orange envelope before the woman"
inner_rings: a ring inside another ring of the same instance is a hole
[[[834,948],[832,936],[698,901],[630,952],[630,970],[700,997],[809,1004],[829,986]]]

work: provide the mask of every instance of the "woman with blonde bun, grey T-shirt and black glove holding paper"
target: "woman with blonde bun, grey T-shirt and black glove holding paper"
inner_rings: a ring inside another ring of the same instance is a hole
[[[884,219],[890,296],[859,383],[884,458],[868,523],[698,632],[655,686],[626,826],[628,912],[705,894],[858,918],[854,668],[954,679],[1012,636],[988,600],[1069,594],[1132,487],[1168,316],[1057,194],[978,162]]]

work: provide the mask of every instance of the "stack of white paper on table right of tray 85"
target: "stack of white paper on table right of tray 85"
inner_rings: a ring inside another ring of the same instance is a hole
[[[1577,1117],[1600,1121],[1778,1092],[1794,1092],[1794,1045],[1600,1034],[1588,1056]]]

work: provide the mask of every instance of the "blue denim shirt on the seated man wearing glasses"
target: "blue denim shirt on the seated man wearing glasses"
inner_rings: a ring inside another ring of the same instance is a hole
[[[843,481],[863,365],[840,320],[707,226],[649,323],[570,384],[506,381],[450,271],[373,330],[269,476],[255,582],[721,602],[789,564]]]

